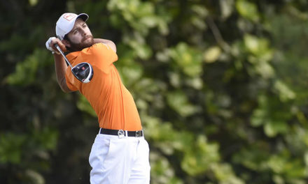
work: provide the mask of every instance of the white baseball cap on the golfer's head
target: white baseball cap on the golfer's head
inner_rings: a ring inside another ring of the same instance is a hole
[[[64,36],[73,29],[76,19],[81,18],[83,21],[87,21],[89,16],[85,13],[79,15],[75,13],[64,13],[59,17],[57,24],[55,26],[55,33],[59,40],[63,40]]]

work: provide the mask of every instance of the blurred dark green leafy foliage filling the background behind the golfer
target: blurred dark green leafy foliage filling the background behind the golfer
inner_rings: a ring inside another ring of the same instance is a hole
[[[66,11],[117,45],[151,183],[308,183],[307,1],[0,5],[0,183],[89,183],[97,117],[45,49]]]

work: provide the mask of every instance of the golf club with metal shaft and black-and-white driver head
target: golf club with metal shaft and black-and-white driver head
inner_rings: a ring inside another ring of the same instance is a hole
[[[55,47],[62,54],[66,63],[69,64],[69,66],[71,67],[71,72],[76,77],[76,79],[83,83],[90,82],[93,77],[93,68],[90,63],[83,62],[73,67],[71,66],[71,63],[69,63],[69,60],[66,58],[59,45],[55,44]]]

